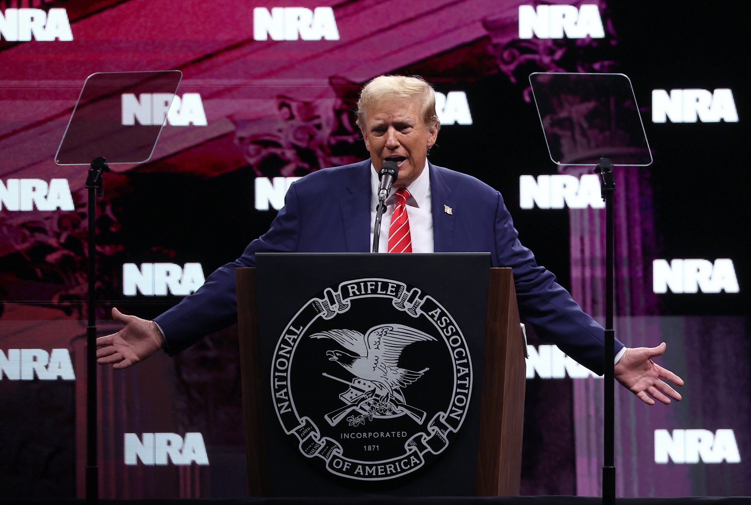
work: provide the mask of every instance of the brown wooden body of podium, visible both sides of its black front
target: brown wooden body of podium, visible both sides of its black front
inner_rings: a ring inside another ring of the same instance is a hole
[[[255,268],[237,268],[248,494],[268,496]],[[511,268],[491,268],[478,446],[478,496],[519,494],[526,364]]]

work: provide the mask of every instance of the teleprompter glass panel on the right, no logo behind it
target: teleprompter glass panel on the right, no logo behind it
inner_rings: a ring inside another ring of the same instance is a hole
[[[558,165],[652,163],[647,134],[629,77],[624,74],[534,73],[532,95]]]

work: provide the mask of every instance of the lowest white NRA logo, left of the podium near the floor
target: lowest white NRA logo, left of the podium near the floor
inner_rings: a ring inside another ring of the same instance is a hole
[[[144,433],[143,440],[137,434],[125,434],[125,464],[188,465],[209,464],[204,436],[200,433],[186,433],[185,438],[176,433]]]

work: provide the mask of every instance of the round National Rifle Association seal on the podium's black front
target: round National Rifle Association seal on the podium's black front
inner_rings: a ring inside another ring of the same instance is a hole
[[[309,300],[271,365],[282,429],[347,479],[397,479],[439,457],[471,391],[472,360],[451,314],[388,279],[349,280]]]

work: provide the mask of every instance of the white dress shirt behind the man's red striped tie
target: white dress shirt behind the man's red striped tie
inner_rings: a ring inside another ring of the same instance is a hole
[[[375,231],[375,213],[378,207],[378,173],[370,164],[370,249],[373,246],[373,232]],[[407,217],[409,218],[409,235],[412,238],[412,253],[433,253],[433,210],[430,201],[430,169],[427,159],[422,173],[412,184],[407,186]],[[388,253],[388,232],[391,227],[391,215],[397,206],[396,189],[393,187],[386,198],[386,210],[381,219],[381,237],[378,252]]]

